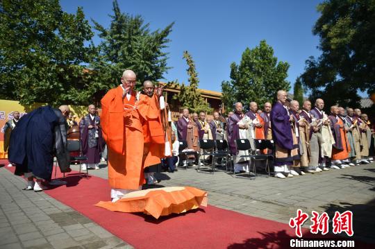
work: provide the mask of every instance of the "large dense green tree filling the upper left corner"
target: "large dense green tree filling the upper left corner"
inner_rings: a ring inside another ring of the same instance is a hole
[[[0,1],[0,98],[58,105],[90,101],[92,31],[58,0]]]

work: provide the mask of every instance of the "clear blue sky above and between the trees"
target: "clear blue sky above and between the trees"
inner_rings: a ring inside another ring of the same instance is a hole
[[[221,91],[222,80],[229,79],[231,62],[238,63],[247,47],[257,46],[260,40],[274,48],[278,60],[290,64],[288,80],[294,84],[305,67],[305,60],[320,54],[319,37],[312,33],[319,17],[316,10],[321,1],[135,1],[119,0],[122,12],[142,15],[151,31],[175,22],[169,38],[166,80],[188,82],[183,51],[188,50],[199,74],[199,87]],[[104,27],[110,24],[112,1],[61,0],[63,10],[76,12],[83,7],[87,19]],[[94,37],[94,43],[99,43]],[[291,91],[292,92],[292,91]]]

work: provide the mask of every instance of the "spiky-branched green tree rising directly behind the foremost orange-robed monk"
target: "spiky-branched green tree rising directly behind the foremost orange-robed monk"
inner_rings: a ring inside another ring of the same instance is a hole
[[[174,23],[163,30],[151,32],[140,15],[135,17],[122,13],[117,0],[113,1],[113,15],[109,28],[94,22],[94,28],[102,38],[98,46],[98,56],[91,67],[97,72],[94,82],[106,89],[119,84],[122,71],[135,71],[138,87],[144,80],[158,80],[169,69],[167,67],[167,47],[169,33]]]

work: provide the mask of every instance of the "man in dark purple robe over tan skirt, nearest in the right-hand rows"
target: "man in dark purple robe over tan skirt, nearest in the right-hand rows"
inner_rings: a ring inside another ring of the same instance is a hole
[[[274,171],[276,178],[293,177],[290,166],[293,165],[291,151],[293,137],[290,122],[293,117],[286,107],[287,93],[283,90],[277,92],[277,102],[272,107],[271,123],[272,138],[276,146],[274,158]]]

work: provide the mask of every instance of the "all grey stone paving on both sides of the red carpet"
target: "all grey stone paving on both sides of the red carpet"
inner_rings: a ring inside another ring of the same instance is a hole
[[[106,164],[90,174],[108,178]],[[156,176],[160,187],[198,187],[208,191],[210,205],[283,223],[296,215],[297,208],[328,212],[331,218],[335,211],[349,209],[356,237],[375,243],[375,164],[283,180],[265,175],[247,180],[191,168]],[[47,194],[20,190],[24,186],[22,178],[0,169],[0,248],[131,248]]]

